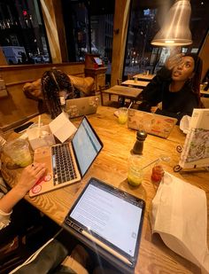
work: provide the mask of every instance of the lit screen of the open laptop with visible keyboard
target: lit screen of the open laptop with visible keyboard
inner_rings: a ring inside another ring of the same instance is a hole
[[[89,169],[103,145],[96,132],[84,117],[72,140],[74,154],[81,171],[81,176]]]

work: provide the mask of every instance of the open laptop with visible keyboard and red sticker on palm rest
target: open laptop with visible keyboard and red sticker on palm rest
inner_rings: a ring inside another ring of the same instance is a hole
[[[29,196],[81,181],[102,148],[101,140],[84,117],[71,142],[35,150],[34,162],[45,163],[47,175],[34,185]]]

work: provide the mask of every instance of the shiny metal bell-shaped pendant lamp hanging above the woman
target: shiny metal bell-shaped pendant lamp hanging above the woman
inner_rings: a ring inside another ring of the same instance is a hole
[[[190,0],[176,0],[167,13],[165,23],[151,44],[157,46],[181,46],[191,44]]]

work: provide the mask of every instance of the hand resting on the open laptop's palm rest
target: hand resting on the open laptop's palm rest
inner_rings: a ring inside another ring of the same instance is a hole
[[[44,175],[45,171],[46,168],[44,164],[33,163],[32,165],[27,166],[27,168],[23,169],[15,188],[18,189],[24,197],[40,177]]]

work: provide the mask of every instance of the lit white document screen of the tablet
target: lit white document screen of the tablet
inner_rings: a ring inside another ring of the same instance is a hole
[[[89,184],[74,207],[71,218],[134,256],[142,208]]]

